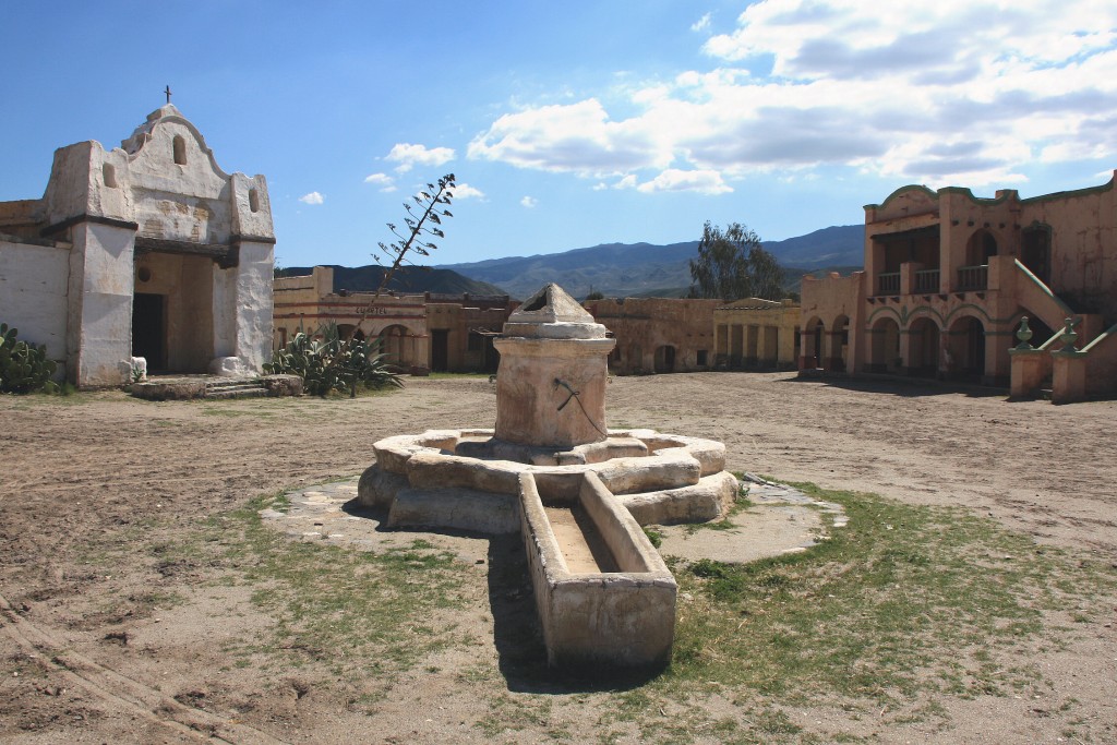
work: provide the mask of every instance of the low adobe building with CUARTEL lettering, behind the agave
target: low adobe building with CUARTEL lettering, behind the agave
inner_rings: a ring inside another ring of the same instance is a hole
[[[382,338],[385,360],[413,372],[496,372],[493,337],[516,303],[507,295],[397,295],[334,288],[334,270],[314,267],[274,283],[274,347],[299,329],[314,333],[334,322],[342,335]]]

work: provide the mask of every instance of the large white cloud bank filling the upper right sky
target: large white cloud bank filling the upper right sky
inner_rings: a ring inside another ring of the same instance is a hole
[[[821,165],[939,187],[1020,180],[1040,160],[1117,160],[1108,0],[764,0],[703,49],[708,69],[620,99],[505,114],[468,155],[704,193]]]

